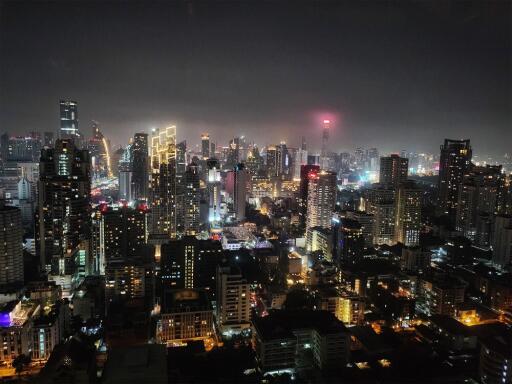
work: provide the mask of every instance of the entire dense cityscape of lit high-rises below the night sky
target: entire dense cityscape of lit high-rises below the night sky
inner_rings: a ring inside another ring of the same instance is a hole
[[[114,151],[61,101],[55,137],[2,135],[2,375],[192,380],[165,367],[245,348],[239,382],[393,381],[421,350],[432,380],[511,383],[510,174],[469,140],[334,153],[330,129],[318,154],[176,126]]]

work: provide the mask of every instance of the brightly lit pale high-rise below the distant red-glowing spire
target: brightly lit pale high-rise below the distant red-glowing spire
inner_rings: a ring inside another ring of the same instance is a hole
[[[336,173],[308,174],[306,232],[314,227],[330,229],[336,204]]]

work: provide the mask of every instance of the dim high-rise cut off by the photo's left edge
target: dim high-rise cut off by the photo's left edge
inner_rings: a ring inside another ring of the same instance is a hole
[[[0,289],[23,285],[21,211],[0,202]]]

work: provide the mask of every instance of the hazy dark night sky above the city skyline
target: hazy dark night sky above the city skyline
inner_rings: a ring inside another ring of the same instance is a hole
[[[1,2],[1,1],[0,1]],[[1,2],[0,131],[512,152],[511,2]]]

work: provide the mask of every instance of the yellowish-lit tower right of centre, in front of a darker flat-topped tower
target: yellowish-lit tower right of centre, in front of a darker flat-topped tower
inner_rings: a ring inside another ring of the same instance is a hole
[[[406,247],[420,243],[421,198],[423,192],[412,180],[400,183],[396,194],[395,241]]]

